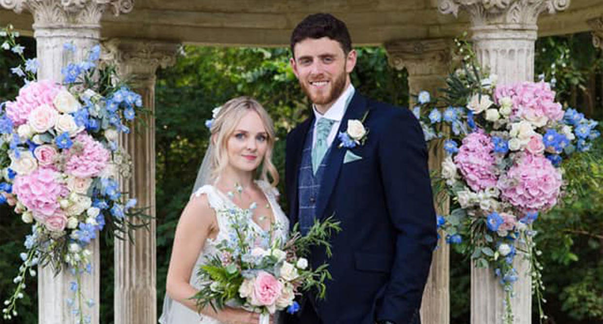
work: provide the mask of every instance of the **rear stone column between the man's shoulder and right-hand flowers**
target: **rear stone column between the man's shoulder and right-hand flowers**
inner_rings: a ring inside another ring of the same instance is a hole
[[[391,66],[406,67],[410,94],[421,90],[429,91],[432,98],[438,88],[443,88],[449,73],[452,41],[446,39],[402,40],[385,44]],[[411,100],[412,104],[412,100]],[[411,105],[412,106],[412,105]],[[429,143],[429,169],[440,170],[444,158],[442,141]],[[435,203],[438,215],[449,213],[446,196],[438,197]],[[438,241],[429,270],[429,278],[423,292],[421,322],[425,324],[450,323],[450,248],[444,237]]]

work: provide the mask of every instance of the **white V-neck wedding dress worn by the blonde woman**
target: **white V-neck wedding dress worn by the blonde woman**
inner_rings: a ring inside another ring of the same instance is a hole
[[[256,180],[257,186],[262,189],[264,195],[268,200],[268,204],[270,204],[270,209],[274,215],[275,221],[275,229],[274,229],[274,238],[280,237],[282,242],[285,242],[288,231],[289,231],[289,219],[286,217],[283,210],[280,209],[279,204],[277,203],[278,191],[270,186],[270,183],[265,182],[264,180]],[[215,239],[207,239],[203,246],[203,250],[199,254],[197,258],[197,262],[192,269],[191,280],[189,283],[191,286],[200,289],[199,278],[197,277],[197,269],[200,264],[204,263],[205,257],[207,255],[214,255],[217,252],[216,245],[222,240],[227,240],[229,238],[229,234],[232,231],[232,228],[229,226],[229,222],[224,215],[224,212],[227,210],[239,207],[236,206],[235,203],[223,192],[219,191],[215,186],[205,185],[194,194],[191,195],[191,199],[195,197],[199,197],[200,195],[207,195],[207,200],[209,201],[209,206],[212,207],[216,212],[216,218],[218,220],[218,236]],[[250,227],[254,230],[257,230],[258,233],[263,233],[264,230],[253,220],[250,220]],[[190,308],[185,307],[177,301],[169,298],[169,296],[165,296],[165,300],[163,301],[163,313],[159,319],[159,323],[161,324],[221,324],[218,320],[213,319],[212,317],[206,315],[200,315],[195,311],[192,311]]]

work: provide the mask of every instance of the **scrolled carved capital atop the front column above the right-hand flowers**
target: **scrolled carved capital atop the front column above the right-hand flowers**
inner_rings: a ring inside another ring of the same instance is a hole
[[[566,10],[570,0],[438,0],[443,14],[469,13],[472,27],[508,25],[517,29],[536,29],[538,16],[543,12]]]

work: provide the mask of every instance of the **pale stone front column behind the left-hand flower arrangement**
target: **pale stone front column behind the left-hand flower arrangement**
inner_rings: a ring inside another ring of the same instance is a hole
[[[61,69],[67,63],[79,62],[87,57],[88,51],[98,43],[100,20],[107,8],[114,14],[132,10],[131,0],[0,0],[3,8],[21,13],[29,11],[34,17],[34,37],[37,42],[39,61],[38,78],[62,82]],[[75,53],[63,50],[63,44],[77,46]],[[90,316],[90,323],[99,322],[99,245],[92,240],[87,249],[92,251],[92,274],[81,276],[84,300],[93,299],[92,307],[82,305],[84,315]],[[75,323],[72,307],[67,299],[74,298],[69,290],[75,277],[66,269],[55,276],[50,266],[38,268],[38,317],[39,323]]]

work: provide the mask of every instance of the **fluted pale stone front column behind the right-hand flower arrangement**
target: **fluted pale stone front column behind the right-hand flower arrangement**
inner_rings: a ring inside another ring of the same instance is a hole
[[[569,0],[439,0],[441,13],[469,13],[472,40],[482,66],[498,75],[498,84],[534,81],[534,41],[540,13],[565,10]],[[514,266],[519,280],[511,299],[514,323],[531,323],[529,264],[519,254]],[[492,269],[472,266],[471,322],[498,324],[504,314],[505,293]]]

